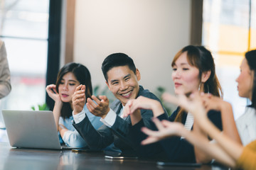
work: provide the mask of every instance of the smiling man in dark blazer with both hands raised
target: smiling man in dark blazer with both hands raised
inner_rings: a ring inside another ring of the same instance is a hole
[[[138,96],[157,101],[159,98],[139,86],[138,81],[141,79],[139,69],[135,67],[132,58],[123,53],[114,53],[106,57],[102,63],[102,72],[108,88],[117,100],[109,106],[106,96],[99,96],[100,99],[92,96],[92,99],[87,98],[86,105],[92,114],[101,117],[100,121],[104,125],[95,130],[82,111],[81,106],[86,102],[83,96],[85,87],[77,89],[73,95],[73,125],[90,149],[104,149],[114,142],[114,147],[121,149],[124,154],[137,154],[135,150],[139,146],[133,142],[129,131],[132,127],[131,117],[123,118],[122,116],[124,106],[130,99]],[[142,109],[140,112],[146,127],[151,128],[152,111]]]

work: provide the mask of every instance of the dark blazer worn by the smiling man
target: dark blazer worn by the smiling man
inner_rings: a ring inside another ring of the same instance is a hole
[[[144,90],[142,86],[139,86],[138,96],[145,96],[159,101],[159,98],[149,92],[149,90]],[[122,108],[122,103],[119,100],[115,100],[111,104],[110,108],[112,108],[115,113],[119,113]],[[152,111],[141,109],[141,113],[144,125],[151,128],[152,123],[149,122],[153,117]],[[98,130],[95,130],[87,117],[85,117],[85,119],[80,123],[73,123],[73,125],[85,142],[87,142],[90,149],[101,150],[114,142],[114,146],[121,149],[124,153],[136,152],[137,144],[133,142],[129,130],[132,127],[129,116],[122,119],[117,115],[114,125],[112,125],[111,128],[108,128],[106,125],[102,125]]]

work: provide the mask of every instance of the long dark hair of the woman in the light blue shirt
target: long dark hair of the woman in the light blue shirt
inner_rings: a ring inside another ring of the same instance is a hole
[[[58,72],[57,81],[56,81],[56,91],[58,91],[58,86],[60,85],[61,79],[63,79],[63,76],[67,74],[68,72],[71,72],[74,74],[75,78],[78,79],[80,84],[85,85],[85,98],[90,98],[92,96],[92,81],[90,77],[90,72],[82,64],[70,62],[68,64],[65,64],[61,69],[60,72]],[[65,118],[69,118],[72,115],[72,108],[70,106],[70,103],[63,103],[63,107],[60,111],[60,116]]]

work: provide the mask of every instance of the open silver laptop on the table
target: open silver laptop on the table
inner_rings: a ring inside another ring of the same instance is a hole
[[[60,146],[52,111],[3,110],[11,147],[72,149]]]

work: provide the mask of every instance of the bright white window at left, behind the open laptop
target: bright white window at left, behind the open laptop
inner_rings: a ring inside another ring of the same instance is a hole
[[[1,0],[0,15],[12,86],[1,109],[31,110],[46,101],[49,1]]]

